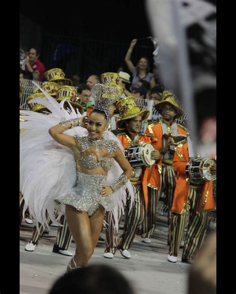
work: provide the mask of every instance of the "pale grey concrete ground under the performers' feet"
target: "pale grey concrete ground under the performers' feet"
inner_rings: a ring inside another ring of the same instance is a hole
[[[54,238],[40,238],[33,252],[24,250],[32,234],[33,225],[22,221],[20,226],[20,294],[47,294],[54,281],[63,275],[71,259],[52,252]],[[56,236],[57,228],[51,227]],[[105,238],[105,229],[101,233]],[[158,223],[151,244],[141,242],[136,235],[130,249],[131,259],[118,251],[113,259],[103,257],[105,241],[99,241],[89,265],[108,264],[116,267],[133,285],[136,294],[187,293],[190,265],[181,262],[180,249],[177,263],[167,261],[167,218],[158,216]],[[69,250],[75,252],[72,242]]]

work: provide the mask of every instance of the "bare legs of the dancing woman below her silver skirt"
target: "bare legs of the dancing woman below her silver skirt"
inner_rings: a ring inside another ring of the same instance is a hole
[[[66,205],[66,220],[76,244],[74,256],[77,266],[88,263],[94,253],[101,232],[105,211],[99,209],[89,218],[87,212],[78,212],[74,207]],[[74,262],[71,261],[72,267]]]

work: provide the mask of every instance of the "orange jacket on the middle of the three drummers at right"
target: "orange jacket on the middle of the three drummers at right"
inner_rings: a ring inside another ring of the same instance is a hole
[[[186,128],[182,125],[178,125],[179,135],[187,135]],[[148,125],[145,134],[152,135],[151,144],[152,146],[159,150],[163,147],[162,145],[162,127],[160,121],[153,122]],[[143,193],[144,197],[147,197],[147,187],[158,190],[160,188],[160,174],[162,172],[162,158],[152,165],[151,167],[146,167],[143,175]]]

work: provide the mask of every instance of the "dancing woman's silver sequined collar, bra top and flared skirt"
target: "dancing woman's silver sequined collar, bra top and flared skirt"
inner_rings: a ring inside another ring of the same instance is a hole
[[[84,154],[83,157],[78,160],[81,161],[81,164],[85,168],[91,170],[97,168],[99,165],[101,165],[105,171],[112,168],[114,159],[111,155],[112,152],[118,148],[116,141],[106,140],[104,138],[102,140],[92,140],[89,136],[75,136],[75,138],[77,142],[81,144],[82,151],[96,146],[96,151],[101,149],[110,153],[110,157],[100,158],[97,158],[93,153],[89,155]],[[106,179],[106,175],[89,175],[77,171],[77,186],[69,193],[56,197],[55,201],[58,204],[71,205],[78,211],[86,211],[88,212],[88,216],[92,216],[100,205],[102,205],[106,211],[112,211],[115,208],[116,201],[109,196],[102,197],[100,194]],[[125,184],[126,182],[123,181],[121,186]]]

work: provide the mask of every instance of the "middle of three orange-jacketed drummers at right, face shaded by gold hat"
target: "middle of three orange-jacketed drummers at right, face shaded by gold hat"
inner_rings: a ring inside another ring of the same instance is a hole
[[[176,118],[184,114],[183,109],[175,100],[175,96],[171,91],[164,91],[162,97],[162,101],[154,104],[155,109],[162,116],[159,121],[150,123],[145,132],[147,135],[152,135],[151,144],[159,150],[161,157],[159,162],[145,169],[143,176],[143,193],[144,197],[148,196],[148,207],[140,230],[144,243],[151,243],[150,238],[156,227],[156,207],[162,192],[167,198],[168,231],[170,230],[170,209],[176,182],[176,173],[172,167],[174,146],[171,146],[171,138],[187,135],[186,128],[175,121]]]

